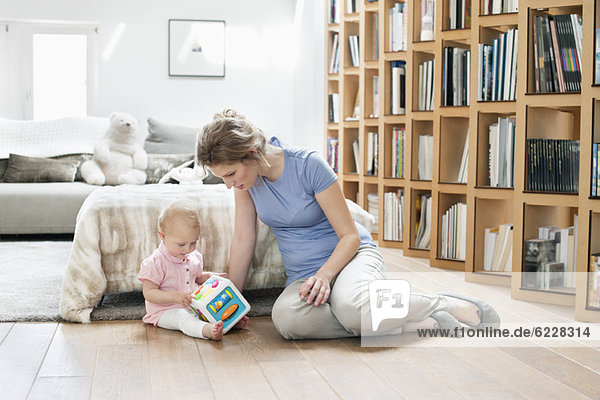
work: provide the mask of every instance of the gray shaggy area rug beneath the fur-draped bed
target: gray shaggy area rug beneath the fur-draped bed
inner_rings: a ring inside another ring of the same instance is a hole
[[[70,241],[0,242],[0,322],[61,321],[58,313],[62,277]],[[283,289],[244,292],[249,316],[271,315]],[[92,320],[141,319],[145,314],[141,292],[105,296]]]

